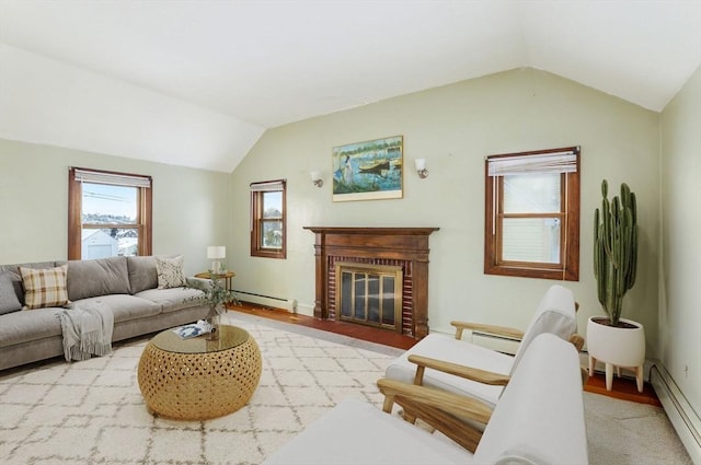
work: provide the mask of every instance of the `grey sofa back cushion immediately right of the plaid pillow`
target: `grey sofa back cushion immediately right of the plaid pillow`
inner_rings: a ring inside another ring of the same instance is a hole
[[[129,293],[126,257],[68,261],[68,298],[79,300]]]

